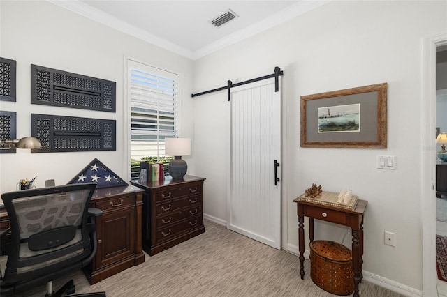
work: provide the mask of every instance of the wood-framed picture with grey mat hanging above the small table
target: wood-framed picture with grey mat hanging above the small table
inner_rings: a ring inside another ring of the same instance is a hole
[[[388,84],[301,96],[301,147],[386,148]]]

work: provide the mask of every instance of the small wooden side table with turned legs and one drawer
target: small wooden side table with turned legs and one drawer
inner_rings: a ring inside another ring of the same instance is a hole
[[[305,216],[309,217],[309,240],[314,241],[314,219],[342,224],[352,230],[352,270],[354,273],[354,295],[358,295],[358,284],[362,280],[362,255],[363,255],[363,217],[368,201],[358,200],[356,209],[326,206],[308,201],[293,200],[298,208],[298,245],[300,250],[300,275],[305,277],[304,252],[305,252]]]

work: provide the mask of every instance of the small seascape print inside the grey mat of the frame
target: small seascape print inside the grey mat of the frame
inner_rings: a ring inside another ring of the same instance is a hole
[[[360,132],[360,103],[318,107],[318,133]]]

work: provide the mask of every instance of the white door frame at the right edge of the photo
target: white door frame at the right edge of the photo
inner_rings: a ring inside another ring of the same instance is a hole
[[[422,129],[421,162],[422,178],[420,206],[422,209],[422,260],[423,296],[437,296],[436,289],[436,199],[434,190],[436,144],[434,128],[436,119],[436,48],[447,45],[447,33],[430,36],[423,40],[422,68]]]

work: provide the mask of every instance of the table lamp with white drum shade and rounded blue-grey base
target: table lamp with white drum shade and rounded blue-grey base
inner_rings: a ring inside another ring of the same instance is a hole
[[[173,179],[181,179],[186,174],[188,165],[182,160],[182,155],[191,155],[191,139],[165,138],[165,154],[173,155],[168,165],[168,172]]]

